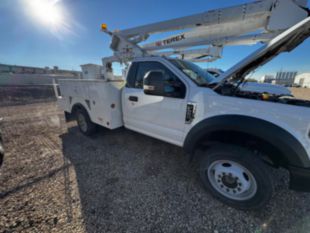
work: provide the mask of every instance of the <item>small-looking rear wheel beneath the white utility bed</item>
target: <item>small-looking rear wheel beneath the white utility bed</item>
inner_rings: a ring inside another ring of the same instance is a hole
[[[87,135],[93,135],[97,130],[97,125],[93,123],[85,109],[78,109],[75,113],[80,131]]]

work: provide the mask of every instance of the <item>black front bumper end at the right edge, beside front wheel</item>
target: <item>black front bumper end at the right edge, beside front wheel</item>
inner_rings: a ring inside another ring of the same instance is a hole
[[[290,189],[310,192],[310,168],[289,167]]]

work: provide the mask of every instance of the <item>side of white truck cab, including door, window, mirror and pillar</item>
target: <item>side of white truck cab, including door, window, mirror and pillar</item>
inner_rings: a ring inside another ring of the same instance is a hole
[[[197,91],[198,87],[171,61],[162,57],[136,59],[122,92],[124,125],[182,146],[186,124],[191,121],[186,119],[187,106]]]

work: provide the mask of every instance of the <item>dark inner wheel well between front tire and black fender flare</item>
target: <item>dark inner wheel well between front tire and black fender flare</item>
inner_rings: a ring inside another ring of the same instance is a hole
[[[285,166],[288,163],[280,149],[275,145],[243,132],[223,130],[209,133],[198,142],[198,148],[206,148],[218,143],[246,147],[274,167]]]

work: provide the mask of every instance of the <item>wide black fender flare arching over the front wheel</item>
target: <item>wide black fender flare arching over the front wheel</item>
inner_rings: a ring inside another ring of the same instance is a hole
[[[289,166],[310,167],[309,157],[301,143],[285,129],[268,121],[241,115],[221,115],[196,124],[187,134],[183,147],[193,154],[204,137],[213,132],[233,131],[253,135],[277,148]]]

